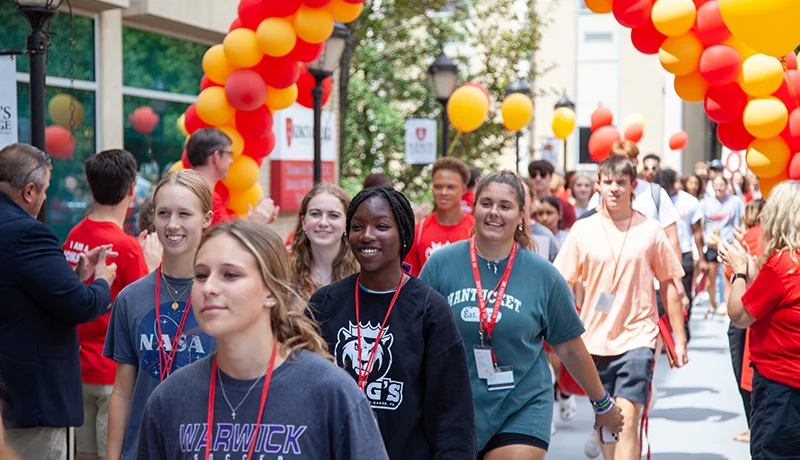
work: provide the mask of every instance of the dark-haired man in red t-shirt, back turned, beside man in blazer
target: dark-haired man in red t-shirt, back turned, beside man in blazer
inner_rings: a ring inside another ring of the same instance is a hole
[[[125,286],[150,272],[139,241],[123,230],[125,216],[135,197],[136,160],[125,150],[106,150],[90,156],[83,169],[94,205],[92,212],[69,232],[63,246],[64,255],[67,262],[75,266],[82,253],[112,244],[119,254],[117,278],[111,285],[113,301]],[[150,234],[145,238],[158,237]],[[108,403],[117,372],[116,363],[103,356],[110,316],[106,313],[78,326],[84,424],[75,431],[75,444],[81,459],[106,456]]]

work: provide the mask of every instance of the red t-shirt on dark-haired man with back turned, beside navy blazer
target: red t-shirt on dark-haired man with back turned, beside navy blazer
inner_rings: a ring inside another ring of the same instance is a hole
[[[64,242],[63,250],[67,262],[72,267],[78,264],[80,253],[87,252],[103,244],[113,244],[114,252],[119,255],[111,259],[117,264],[117,277],[111,285],[111,299],[116,299],[119,291],[139,278],[147,275],[149,270],[144,259],[144,252],[139,241],[126,234],[113,222],[95,222],[84,218],[73,227]],[[94,277],[86,280],[86,284]],[[114,361],[103,356],[103,345],[106,341],[108,320],[107,313],[94,321],[78,325],[78,342],[81,350],[81,374],[84,383],[93,385],[113,385],[117,372]]]

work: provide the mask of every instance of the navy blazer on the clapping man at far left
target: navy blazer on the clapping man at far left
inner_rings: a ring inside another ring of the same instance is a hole
[[[78,324],[111,307],[82,283],[50,228],[0,193],[0,405],[8,428],[83,424]]]

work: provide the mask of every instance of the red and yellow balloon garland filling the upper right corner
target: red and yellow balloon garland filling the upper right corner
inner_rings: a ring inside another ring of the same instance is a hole
[[[747,150],[763,179],[800,164],[798,0],[586,0],[631,28],[633,46],[658,54],[685,101],[703,102],[723,145]],[[800,168],[797,168],[800,179]]]

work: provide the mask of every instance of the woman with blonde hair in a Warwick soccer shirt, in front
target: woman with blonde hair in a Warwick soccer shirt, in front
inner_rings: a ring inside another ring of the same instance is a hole
[[[217,352],[153,392],[139,458],[386,459],[366,397],[302,312],[275,232],[243,221],[215,227],[194,277],[192,308]]]

